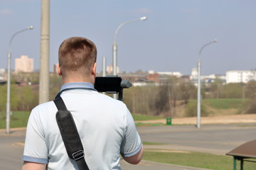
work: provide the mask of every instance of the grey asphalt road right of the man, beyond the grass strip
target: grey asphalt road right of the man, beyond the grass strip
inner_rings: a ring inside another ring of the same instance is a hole
[[[226,154],[231,149],[256,138],[255,124],[174,125],[137,128],[144,142],[167,145],[146,146]]]

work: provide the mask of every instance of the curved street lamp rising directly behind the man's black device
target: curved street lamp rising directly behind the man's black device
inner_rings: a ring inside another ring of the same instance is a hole
[[[113,75],[116,76],[117,75],[117,33],[119,31],[120,28],[122,28],[122,26],[126,25],[127,23],[133,23],[133,22],[137,22],[137,21],[145,21],[147,18],[146,16],[143,16],[139,19],[135,19],[132,21],[126,21],[124,23],[121,23],[118,27],[117,30],[115,30],[114,32],[114,45],[113,45]]]

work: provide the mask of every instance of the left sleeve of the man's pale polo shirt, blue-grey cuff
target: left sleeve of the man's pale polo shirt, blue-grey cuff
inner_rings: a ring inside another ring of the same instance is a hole
[[[33,109],[28,119],[23,161],[48,164],[48,149],[41,119]]]

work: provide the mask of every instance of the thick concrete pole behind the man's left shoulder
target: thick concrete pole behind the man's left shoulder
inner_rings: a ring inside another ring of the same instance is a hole
[[[41,0],[39,103],[49,101],[50,0]]]

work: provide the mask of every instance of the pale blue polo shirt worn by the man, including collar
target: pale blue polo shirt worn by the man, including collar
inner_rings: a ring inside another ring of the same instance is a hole
[[[131,157],[142,149],[132,115],[122,101],[98,93],[85,82],[63,84],[58,95],[73,115],[90,170],[120,169],[119,154]],[[33,108],[23,161],[48,164],[48,169],[78,169],[65,150],[57,111],[53,101]]]

